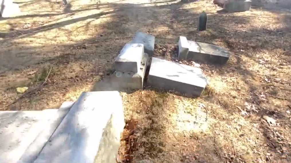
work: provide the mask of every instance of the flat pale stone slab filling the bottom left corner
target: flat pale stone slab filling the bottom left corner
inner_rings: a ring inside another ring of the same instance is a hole
[[[1,111],[0,162],[16,163],[57,111]]]

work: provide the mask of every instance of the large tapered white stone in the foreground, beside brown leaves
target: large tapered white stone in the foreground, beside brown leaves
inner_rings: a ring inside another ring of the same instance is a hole
[[[116,162],[124,125],[119,92],[83,92],[34,163]]]

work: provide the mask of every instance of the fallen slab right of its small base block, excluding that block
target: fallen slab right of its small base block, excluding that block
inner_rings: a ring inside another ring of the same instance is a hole
[[[187,60],[220,65],[223,65],[228,61],[230,53],[224,48],[202,42],[188,42],[189,52]]]

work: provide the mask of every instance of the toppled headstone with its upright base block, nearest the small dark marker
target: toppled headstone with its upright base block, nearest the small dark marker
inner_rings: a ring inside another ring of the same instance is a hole
[[[180,44],[180,42],[182,42],[182,44]],[[196,62],[223,65],[228,61],[230,56],[230,53],[224,48],[212,44],[189,41],[186,37],[180,37],[178,44],[179,60],[193,60]]]

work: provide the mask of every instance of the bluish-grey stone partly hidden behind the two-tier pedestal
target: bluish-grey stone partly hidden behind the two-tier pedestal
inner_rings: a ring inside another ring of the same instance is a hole
[[[154,55],[155,36],[142,32],[136,32],[131,43],[143,44],[144,52],[148,53],[150,57]]]

